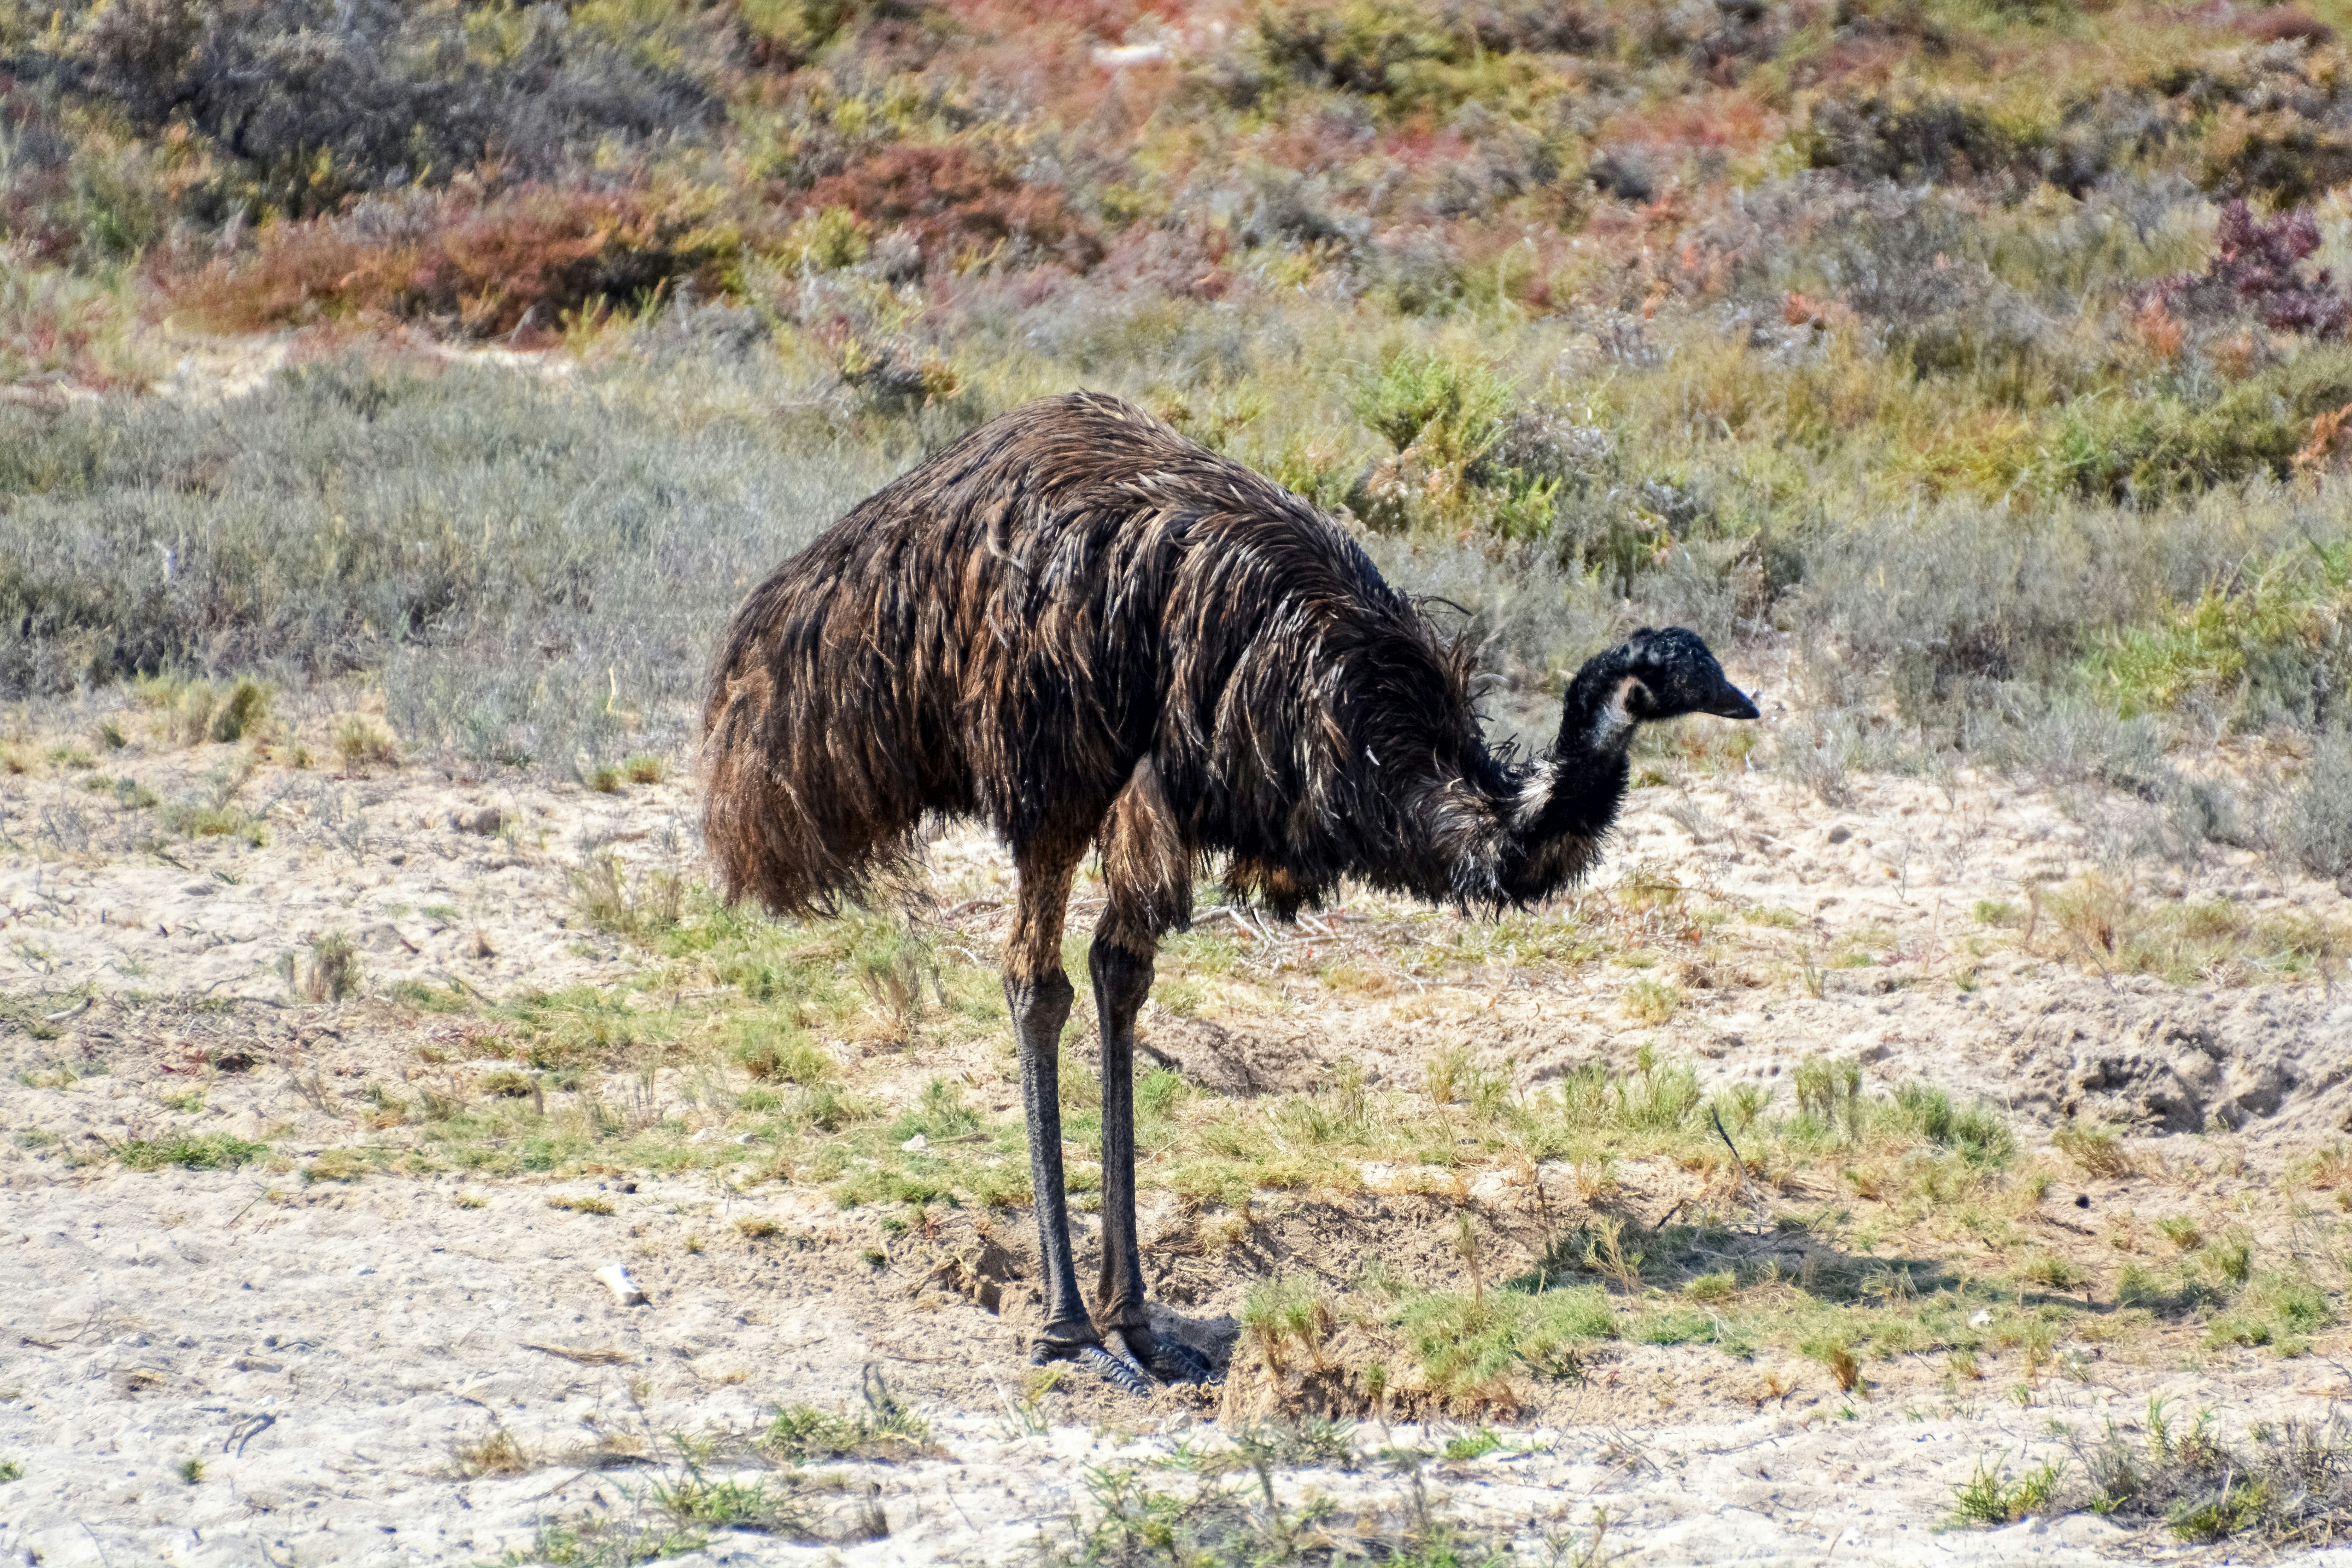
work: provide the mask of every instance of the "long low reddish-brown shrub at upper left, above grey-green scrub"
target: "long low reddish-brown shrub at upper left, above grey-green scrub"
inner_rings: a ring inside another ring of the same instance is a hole
[[[207,266],[172,294],[221,329],[388,315],[437,317],[473,336],[548,331],[590,301],[640,301],[715,273],[736,242],[696,221],[694,207],[527,188],[485,207],[447,202],[421,240],[393,244],[336,219],[278,223],[252,256]]]

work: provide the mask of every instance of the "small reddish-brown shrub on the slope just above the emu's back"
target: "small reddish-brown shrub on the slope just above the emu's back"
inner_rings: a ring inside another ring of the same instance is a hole
[[[924,261],[969,266],[1011,244],[1075,273],[1103,259],[1094,223],[1070,212],[1061,186],[1025,183],[964,146],[884,148],[816,181],[807,205],[847,207],[875,228],[903,228],[922,244]]]

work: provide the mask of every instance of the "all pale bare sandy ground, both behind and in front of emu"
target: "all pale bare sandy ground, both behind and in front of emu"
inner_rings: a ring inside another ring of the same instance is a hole
[[[868,1366],[931,1422],[938,1453],[818,1467],[840,1479],[823,1493],[821,1544],[722,1533],[703,1556],[1028,1561],[1073,1547],[1089,1465],[1148,1465],[1202,1439],[1214,1403],[1176,1392],[1054,1394],[1035,1406],[1049,1429],[1028,1432],[1021,1312],[924,1291],[931,1255],[964,1237],[889,1239],[814,1190],[557,1182],[614,1206],[595,1215],[550,1208],[536,1182],[303,1185],[261,1168],[78,1164],[99,1143],[176,1131],[270,1138],[294,1159],[348,1143],[343,1100],[447,1027],[383,994],[402,980],[482,997],[619,985],[630,954],[579,929],[574,867],[614,851],[630,867],[691,865],[682,780],[597,795],[419,764],[369,776],[280,759],[242,773],[230,750],[169,748],[134,726],[89,766],[35,762],[0,778],[0,1001],[14,1009],[0,1023],[12,1074],[0,1121],[14,1135],[0,1145],[0,1460],[24,1465],[0,1483],[0,1561],[499,1561],[527,1554],[548,1521],[644,1514],[656,1472],[635,1460],[673,1460],[675,1434],[741,1436],[786,1403],[854,1406]],[[136,778],[160,804],[92,778]],[[263,842],[155,832],[172,802],[219,799]],[[1710,1081],[1771,1084],[1806,1056],[1844,1053],[1877,1084],[1929,1077],[1992,1095],[2027,1128],[2082,1114],[2150,1147],[2220,1152],[2209,1182],[2220,1197],[2234,1166],[2336,1138],[2352,1112],[2352,992],[2331,976],[2178,987],[2049,943],[1983,940],[1978,900],[2027,905],[2091,867],[2098,835],[2082,818],[1999,780],[1863,778],[1825,809],[1780,778],[1693,771],[1632,797],[1590,903],[1595,922],[1649,922],[1639,936],[1663,966],[1472,961],[1451,917],[1414,924],[1371,900],[1296,931],[1211,914],[1242,938],[1256,994],[1284,1001],[1355,950],[1371,966],[1374,952],[1428,943],[1428,959],[1317,990],[1312,1006],[1249,1011],[1211,985],[1183,1018],[1150,1013],[1148,1034],[1228,1093],[1312,1084],[1338,1060],[1414,1084],[1449,1046],[1519,1084],[1628,1060],[1644,1041],[1693,1058]],[[985,950],[1004,922],[1002,856],[967,835],[938,844],[934,867],[948,936]],[[2157,900],[2352,924],[2340,891],[2246,851],[2133,875]],[[1639,914],[1628,910],[1644,900],[1609,898],[1658,886],[1684,896]],[[1675,914],[1700,905],[1773,914],[1715,926]],[[285,964],[299,973],[327,931],[358,943],[379,1001],[320,1006],[289,987]],[[1677,943],[1689,959],[1672,957]],[[1856,943],[1877,961],[1830,964]],[[1684,1006],[1630,1020],[1628,987],[1658,976]],[[80,1067],[59,1077],[59,1063]],[[165,1105],[205,1063],[207,1103]],[[1312,1206],[1291,1213],[1294,1229],[1338,1237],[1327,1246],[1406,1234],[1414,1173],[1367,1175],[1395,1194],[1381,1199],[1390,1232]],[[1510,1180],[1477,1197],[1522,1201]],[[1543,1180],[1534,1173],[1538,1192]],[[781,1239],[743,1239],[743,1213],[776,1218]],[[1174,1225],[1148,1211],[1148,1239]],[[1268,1234],[1268,1255],[1291,1246],[1279,1225]],[[1080,1251],[1087,1272],[1084,1237]],[[593,1276],[607,1260],[628,1262],[652,1302],[616,1305]],[[1169,1291],[1174,1265],[1152,1267],[1155,1291],[1183,1295]],[[1230,1345],[1230,1291],[1181,1312],[1176,1331]],[[2331,1359],[2338,1340],[2298,1361],[2225,1352],[2197,1371],[2105,1361],[2079,1382],[2046,1380],[2030,1406],[2002,1394],[1999,1371],[1973,1401],[1915,1396],[1924,1380],[1900,1378],[1865,1401],[1825,1396],[1818,1378],[1773,1401],[1719,1352],[1611,1347],[1583,1389],[1536,1410],[1543,1425],[1508,1427],[1505,1450],[1437,1465],[1428,1486],[1465,1526],[1510,1530],[1538,1561],[1578,1561],[1562,1533],[1590,1535],[1597,1507],[1602,1561],[2150,1561],[2190,1552],[2089,1516],[1938,1526],[1980,1462],[2065,1453],[2058,1427],[2093,1434],[2152,1392],[2213,1406],[2230,1427],[2321,1415],[2352,1392]],[[459,1450],[501,1427],[532,1469],[468,1476]],[[1371,1450],[1423,1436],[1444,1434],[1367,1425],[1359,1467],[1289,1472],[1284,1495],[1392,1512],[1404,1481]],[[195,1483],[179,1474],[188,1460],[205,1465]],[[873,1507],[889,1533],[861,1540]]]

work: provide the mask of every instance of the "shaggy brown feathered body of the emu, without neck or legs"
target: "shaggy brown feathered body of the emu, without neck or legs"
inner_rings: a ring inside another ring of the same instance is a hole
[[[1308,891],[1418,884],[1418,797],[1494,783],[1458,649],[1355,541],[1089,393],[983,425],[753,590],[703,752],[727,893],[800,912],[898,870],[927,811],[1082,844],[1145,755],[1195,849]]]

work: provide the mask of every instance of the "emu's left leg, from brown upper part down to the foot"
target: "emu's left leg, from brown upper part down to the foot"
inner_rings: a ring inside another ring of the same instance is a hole
[[[1143,1394],[1150,1382],[1127,1356],[1103,1349],[1077,1293],[1070,1260],[1070,1204],[1061,1185],[1061,1025],[1070,1020],[1070,978],[1061,971],[1061,919],[1077,856],[1021,856],[1021,903],[1004,950],[1004,1001],[1021,1056],[1021,1110],[1028,1117],[1030,1187],[1037,1201],[1037,1255],[1044,1262],[1044,1328],[1030,1361],[1087,1361],[1115,1385]]]

